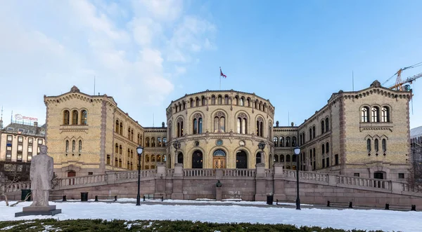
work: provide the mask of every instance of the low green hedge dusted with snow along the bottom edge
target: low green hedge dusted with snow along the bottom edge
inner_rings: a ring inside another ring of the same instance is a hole
[[[294,226],[288,224],[212,223],[200,221],[125,221],[103,219],[36,219],[28,221],[0,221],[0,230],[7,231],[302,231],[302,232],[361,232],[321,228],[318,226]],[[364,232],[364,231],[362,231]],[[370,231],[366,231],[370,232]],[[383,231],[372,231],[383,232]]]

